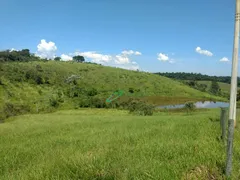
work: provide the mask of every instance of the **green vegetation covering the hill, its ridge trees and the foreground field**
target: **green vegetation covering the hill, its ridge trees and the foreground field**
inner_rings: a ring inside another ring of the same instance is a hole
[[[216,81],[208,89],[27,49],[2,51],[0,61],[0,179],[223,178],[219,111],[194,106],[226,100]],[[116,90],[124,95],[106,102]],[[181,111],[154,108],[179,102]]]

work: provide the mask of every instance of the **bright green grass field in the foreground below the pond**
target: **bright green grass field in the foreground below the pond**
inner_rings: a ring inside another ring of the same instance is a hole
[[[219,114],[80,109],[11,117],[0,124],[0,179],[221,179]],[[239,179],[239,128],[234,135]]]

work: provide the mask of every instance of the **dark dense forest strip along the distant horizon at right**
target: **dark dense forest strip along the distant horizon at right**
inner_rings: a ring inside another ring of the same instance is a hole
[[[217,81],[230,84],[230,76],[208,76],[200,73],[185,73],[185,72],[166,72],[166,73],[154,73],[161,76],[165,76],[177,80],[195,80],[195,81]],[[240,86],[240,78],[238,77],[238,86]]]

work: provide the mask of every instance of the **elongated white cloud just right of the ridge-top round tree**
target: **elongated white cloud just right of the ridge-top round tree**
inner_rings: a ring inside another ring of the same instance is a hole
[[[112,60],[111,55],[99,54],[95,51],[88,52],[76,52],[75,55],[84,56],[85,58],[91,59],[95,63],[107,63]]]

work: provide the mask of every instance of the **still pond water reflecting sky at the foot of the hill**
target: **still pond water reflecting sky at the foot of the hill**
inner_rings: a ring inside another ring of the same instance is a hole
[[[229,103],[227,102],[213,102],[213,101],[199,101],[194,103],[197,108],[218,108],[218,107],[229,107]],[[177,109],[183,108],[184,104],[176,104],[176,105],[166,105],[166,106],[158,106],[161,109]]]

